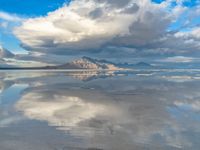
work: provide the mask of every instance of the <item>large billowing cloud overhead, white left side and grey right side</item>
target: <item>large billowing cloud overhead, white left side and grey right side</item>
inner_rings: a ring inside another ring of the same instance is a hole
[[[72,1],[14,31],[27,50],[45,53],[95,51],[107,46],[145,47],[165,34],[168,5],[142,1]]]

